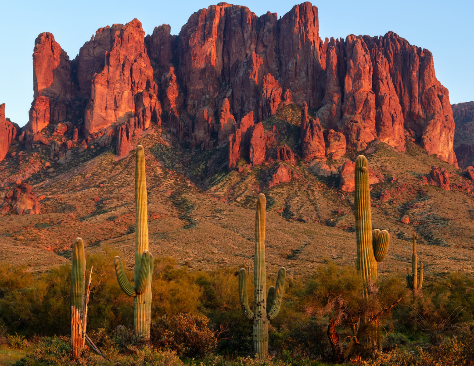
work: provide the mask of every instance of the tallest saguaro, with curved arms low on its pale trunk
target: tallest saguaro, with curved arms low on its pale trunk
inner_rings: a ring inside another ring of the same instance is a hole
[[[134,298],[135,333],[142,341],[150,339],[151,324],[151,280],[153,256],[148,251],[148,223],[146,213],[145,151],[137,146],[135,168],[135,276],[134,286],[130,284],[120,257],[115,257],[115,273],[123,292]]]

